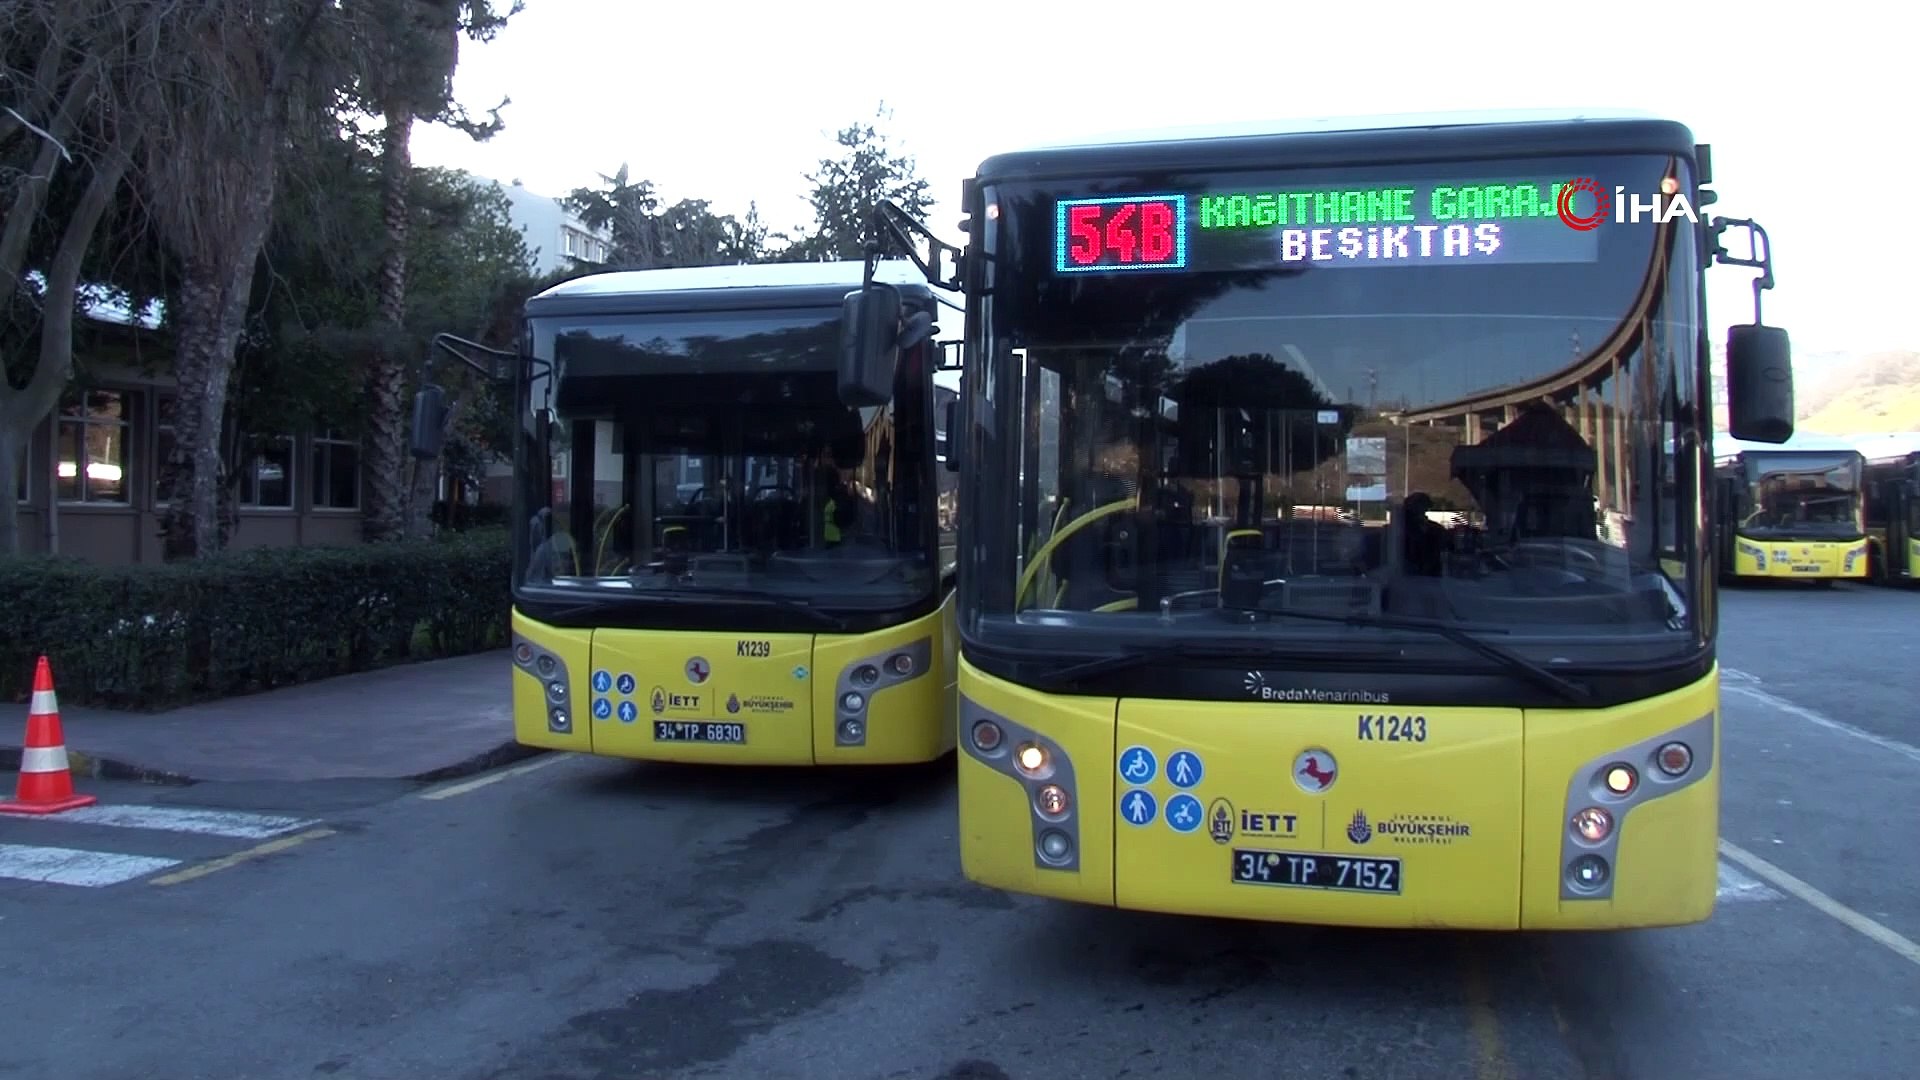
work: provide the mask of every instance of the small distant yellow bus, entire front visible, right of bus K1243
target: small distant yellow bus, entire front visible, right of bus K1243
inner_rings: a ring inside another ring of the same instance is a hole
[[[1715,469],[1722,577],[1864,580],[1864,471],[1859,450],[1722,450]]]

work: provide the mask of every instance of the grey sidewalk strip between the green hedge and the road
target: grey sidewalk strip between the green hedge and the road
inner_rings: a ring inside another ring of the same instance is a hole
[[[513,742],[511,675],[507,650],[493,650],[163,713],[63,705],[60,723],[79,776],[444,780],[538,753]],[[58,694],[58,669],[54,680]],[[27,705],[0,719],[0,769],[19,769]]]

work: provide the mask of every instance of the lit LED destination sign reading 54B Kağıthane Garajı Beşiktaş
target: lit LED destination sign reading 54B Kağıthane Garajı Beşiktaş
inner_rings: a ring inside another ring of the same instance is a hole
[[[1565,181],[1411,181],[1154,192],[1054,206],[1058,273],[1590,263],[1597,233],[1559,217]]]

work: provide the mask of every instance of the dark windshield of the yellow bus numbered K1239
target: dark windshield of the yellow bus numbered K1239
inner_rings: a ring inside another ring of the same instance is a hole
[[[522,398],[522,596],[876,611],[933,590],[922,352],[856,409],[837,307],[555,315],[532,336],[553,371]]]

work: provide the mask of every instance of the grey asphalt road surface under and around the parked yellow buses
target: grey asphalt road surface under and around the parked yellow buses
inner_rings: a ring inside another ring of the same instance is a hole
[[[1738,590],[1722,613],[1732,849],[1703,926],[1008,897],[960,876],[950,761],[88,784],[90,819],[0,821],[0,867],[69,882],[0,880],[0,1076],[1912,1076],[1920,594]],[[106,855],[23,853],[56,846]]]

